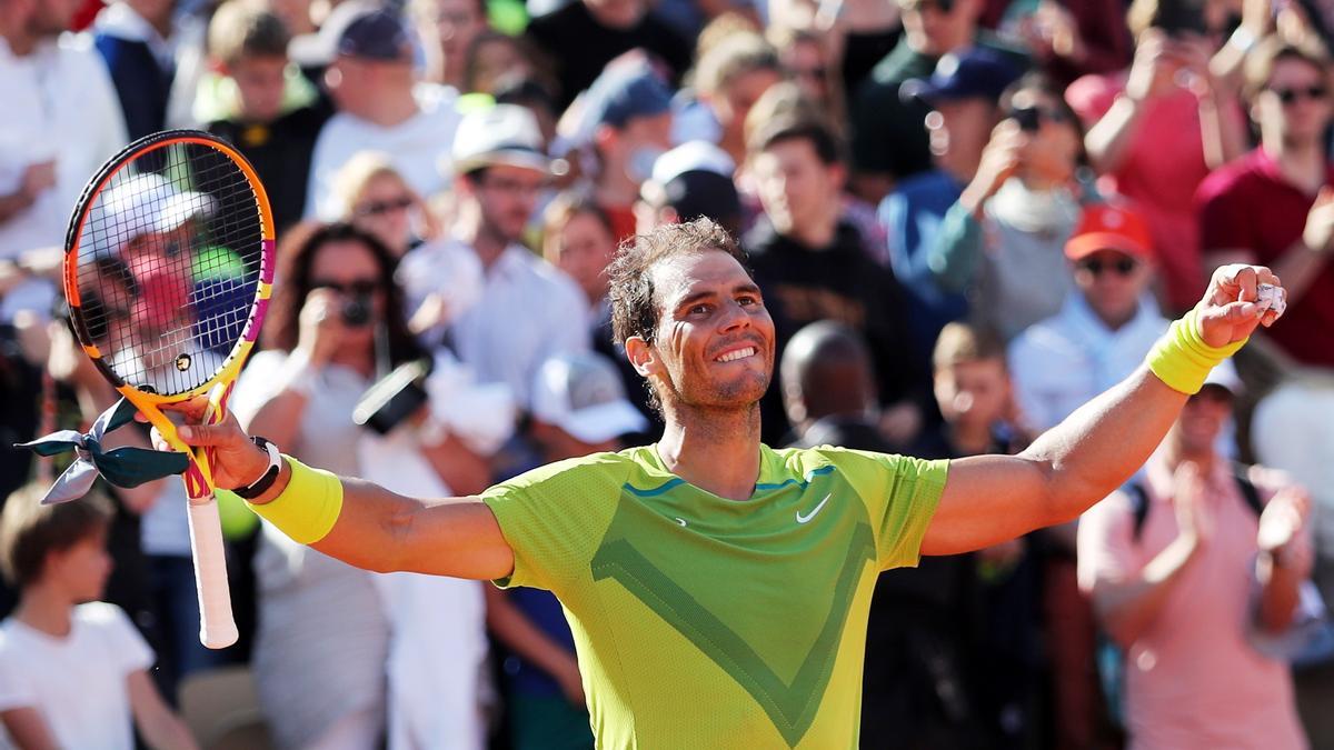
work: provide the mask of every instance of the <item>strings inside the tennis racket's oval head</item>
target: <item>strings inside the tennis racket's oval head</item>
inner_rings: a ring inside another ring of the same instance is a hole
[[[219,149],[177,143],[116,172],[92,198],[77,270],[112,372],[164,395],[211,380],[251,318],[261,243],[259,199]]]

